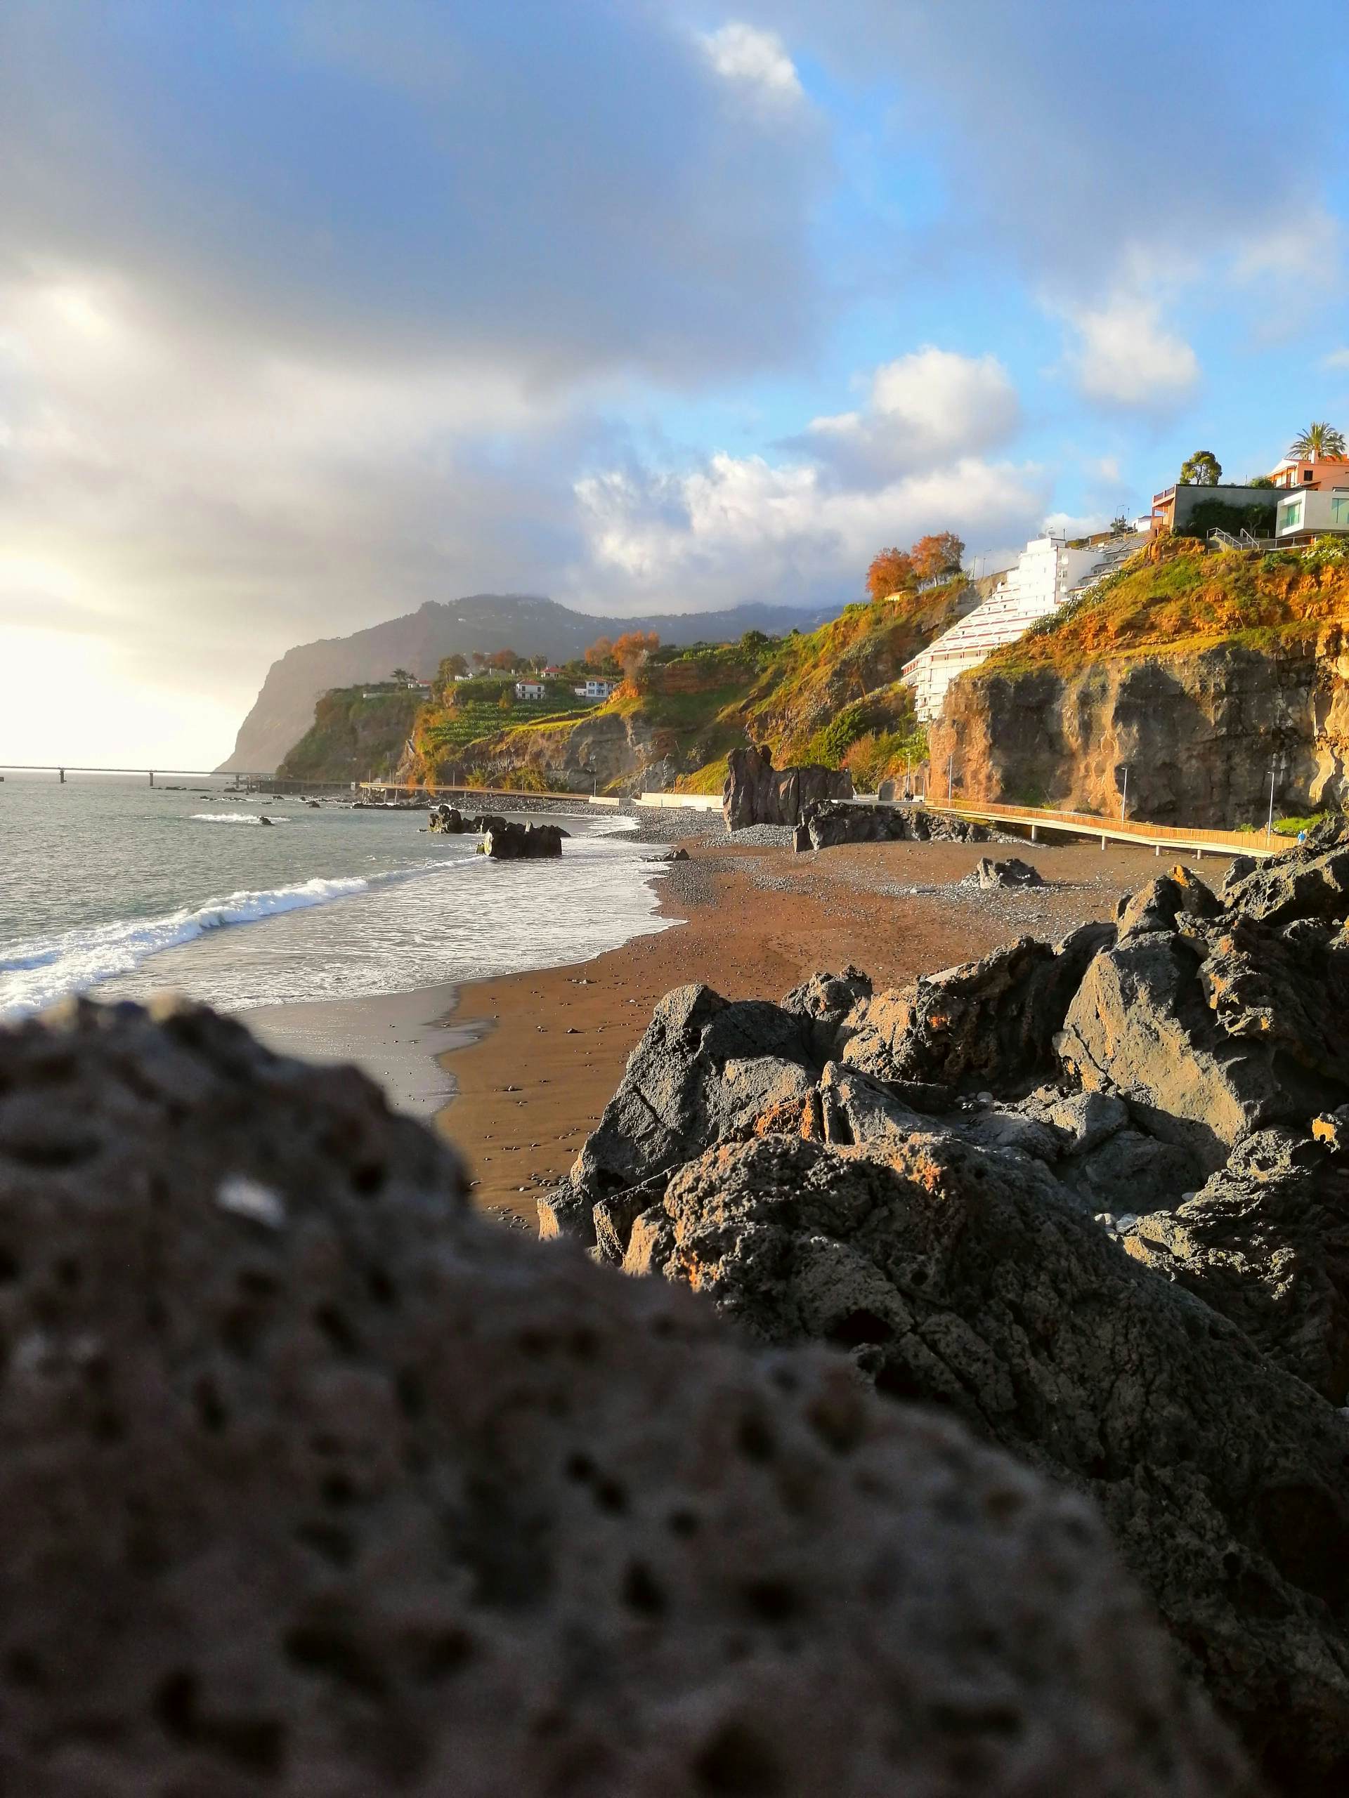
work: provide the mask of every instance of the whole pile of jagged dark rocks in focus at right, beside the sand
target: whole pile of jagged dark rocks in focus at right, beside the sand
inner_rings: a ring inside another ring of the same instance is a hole
[[[1349,1778],[1347,919],[1326,829],[903,991],[682,987],[540,1205],[1090,1496],[1299,1798]]]

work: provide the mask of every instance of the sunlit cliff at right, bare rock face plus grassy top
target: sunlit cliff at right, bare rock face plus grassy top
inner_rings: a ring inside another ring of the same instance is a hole
[[[1272,779],[1277,811],[1345,793],[1349,563],[1158,548],[951,685],[959,795],[1239,827]]]

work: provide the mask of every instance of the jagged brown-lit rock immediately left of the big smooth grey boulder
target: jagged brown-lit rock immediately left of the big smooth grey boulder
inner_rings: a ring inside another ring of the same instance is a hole
[[[1025,1091],[1052,1066],[1068,1003],[1113,939],[1112,924],[1083,924],[1058,946],[1022,937],[982,962],[878,992],[849,1012],[842,1059],[889,1081]]]

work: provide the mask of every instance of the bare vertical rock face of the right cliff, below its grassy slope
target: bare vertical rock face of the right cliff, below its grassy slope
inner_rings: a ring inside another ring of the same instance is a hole
[[[1228,640],[1056,665],[975,671],[951,685],[932,766],[964,798],[1234,829],[1270,804],[1349,793],[1349,644],[1326,624],[1277,644]]]

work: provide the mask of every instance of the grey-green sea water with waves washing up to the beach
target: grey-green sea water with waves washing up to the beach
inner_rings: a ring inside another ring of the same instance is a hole
[[[259,820],[266,813],[273,829]],[[223,1010],[410,992],[662,930],[660,868],[579,807],[561,861],[489,861],[424,814],[147,780],[5,775],[0,1018],[171,987]],[[648,850],[649,852],[649,850]]]

